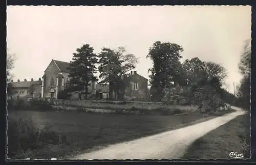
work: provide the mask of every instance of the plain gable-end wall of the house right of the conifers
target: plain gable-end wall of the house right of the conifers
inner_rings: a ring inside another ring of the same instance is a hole
[[[138,88],[134,89],[134,83],[138,83]],[[131,99],[146,99],[147,98],[147,79],[135,74],[130,77],[129,84],[125,87],[125,97]]]

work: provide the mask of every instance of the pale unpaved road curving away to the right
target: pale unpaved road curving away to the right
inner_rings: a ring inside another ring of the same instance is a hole
[[[191,143],[211,130],[229,122],[243,112],[226,114],[202,123],[167,131],[137,140],[110,145],[98,151],[92,151],[72,159],[176,159],[184,155]]]

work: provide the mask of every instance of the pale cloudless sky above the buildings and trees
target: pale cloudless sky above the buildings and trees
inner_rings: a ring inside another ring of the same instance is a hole
[[[222,64],[227,90],[241,79],[244,41],[251,39],[250,6],[8,6],[7,50],[15,54],[11,73],[38,79],[52,59],[69,62],[76,48],[124,46],[139,58],[134,70],[148,78],[146,59],[156,41],[183,47],[182,59]],[[98,75],[98,74],[96,74]],[[148,78],[149,79],[149,78]]]

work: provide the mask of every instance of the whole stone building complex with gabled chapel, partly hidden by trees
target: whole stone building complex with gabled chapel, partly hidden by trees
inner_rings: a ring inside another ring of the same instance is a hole
[[[58,92],[69,86],[68,70],[70,63],[52,60],[44,71],[42,79],[37,81],[17,81],[10,82],[14,93],[10,96],[12,99],[24,96],[32,96],[36,98],[58,98]],[[95,77],[96,78],[96,77]],[[147,98],[147,79],[139,75],[136,71],[131,71],[131,74],[124,79],[125,85],[123,98],[124,99],[146,99]],[[109,97],[109,86],[100,86],[95,80],[89,81],[91,84],[88,87],[88,98],[106,99]],[[33,94],[30,94],[29,89],[33,89]],[[30,95],[29,95],[30,94]],[[92,97],[94,96],[94,97]],[[9,97],[9,98],[10,98]],[[73,93],[72,99],[78,99],[78,94]],[[117,95],[113,93],[113,99],[117,99]]]

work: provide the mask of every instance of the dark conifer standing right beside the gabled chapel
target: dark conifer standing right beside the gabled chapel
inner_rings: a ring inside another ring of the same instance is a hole
[[[86,99],[88,96],[89,81],[95,79],[93,73],[96,73],[95,64],[97,64],[97,54],[90,44],[82,45],[73,53],[73,59],[70,62],[70,85],[75,86],[74,91],[81,95],[85,90]]]

